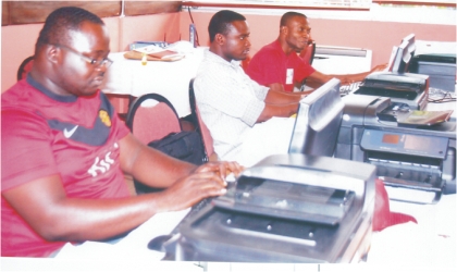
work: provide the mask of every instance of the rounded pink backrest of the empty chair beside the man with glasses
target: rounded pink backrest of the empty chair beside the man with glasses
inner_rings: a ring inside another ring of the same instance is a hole
[[[182,131],[176,110],[166,98],[158,94],[147,94],[135,99],[128,108],[125,123],[133,135],[146,145]]]

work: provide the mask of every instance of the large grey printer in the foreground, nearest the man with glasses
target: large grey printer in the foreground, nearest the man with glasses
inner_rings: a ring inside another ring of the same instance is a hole
[[[370,248],[374,175],[349,160],[267,157],[193,208],[163,248],[178,261],[358,262]]]

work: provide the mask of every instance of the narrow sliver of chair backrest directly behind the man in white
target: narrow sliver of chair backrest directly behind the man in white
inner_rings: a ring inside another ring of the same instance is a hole
[[[189,83],[189,103],[193,122],[196,126],[197,132],[201,136],[207,157],[210,158],[214,153],[213,139],[211,137],[210,131],[208,129],[208,126],[205,124],[203,120],[201,120],[200,112],[198,111],[197,101],[195,99],[194,92],[194,78],[190,79]]]

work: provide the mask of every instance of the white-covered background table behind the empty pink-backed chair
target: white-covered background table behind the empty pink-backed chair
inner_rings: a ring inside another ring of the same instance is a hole
[[[139,97],[156,92],[164,96],[180,118],[190,114],[188,86],[203,59],[205,48],[196,48],[185,58],[173,62],[127,60],[125,52],[110,53],[113,64],[107,72],[102,91]]]

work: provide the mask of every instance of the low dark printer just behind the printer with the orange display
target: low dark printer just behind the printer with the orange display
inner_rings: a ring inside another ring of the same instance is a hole
[[[354,95],[388,97],[412,110],[423,110],[429,99],[429,85],[428,75],[374,72],[363,79]]]

